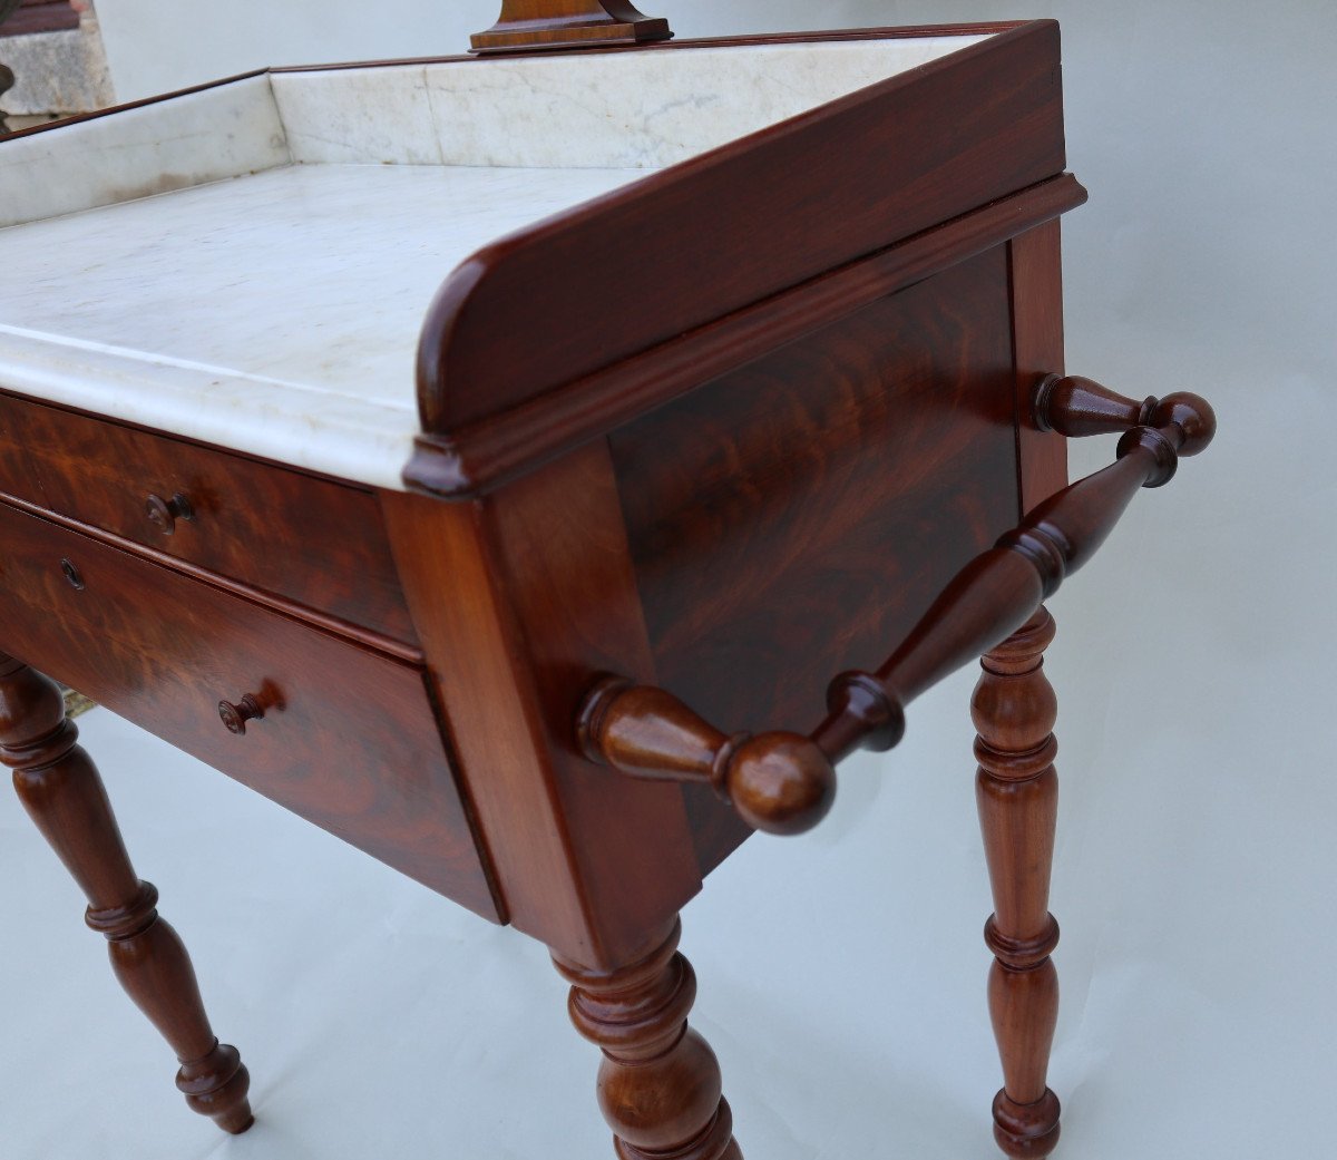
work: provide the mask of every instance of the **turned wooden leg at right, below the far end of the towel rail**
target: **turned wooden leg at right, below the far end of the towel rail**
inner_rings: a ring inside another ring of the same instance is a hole
[[[989,1014],[1003,1057],[993,1136],[1016,1157],[1048,1156],[1059,1140],[1059,1100],[1046,1086],[1059,1013],[1059,977],[1050,958],[1059,925],[1048,909],[1058,700],[1042,658],[1052,639],[1054,617],[1042,608],[984,656],[971,703],[979,730],[976,794],[993,886],[993,915],[984,927],[995,956]]]

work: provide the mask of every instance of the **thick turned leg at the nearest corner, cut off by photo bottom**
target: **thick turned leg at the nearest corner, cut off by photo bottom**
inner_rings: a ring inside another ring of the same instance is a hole
[[[622,1160],[742,1160],[715,1053],[687,1026],[697,976],[678,954],[682,925],[607,974],[554,956],[571,982],[571,1021],[603,1049],[599,1108]]]

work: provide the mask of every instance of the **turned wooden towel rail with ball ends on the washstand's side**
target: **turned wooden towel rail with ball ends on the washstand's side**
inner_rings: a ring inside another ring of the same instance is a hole
[[[707,783],[758,830],[816,826],[834,799],[837,762],[892,748],[909,702],[1025,624],[1095,555],[1138,489],[1169,482],[1179,456],[1198,454],[1217,428],[1198,396],[1138,404],[1084,378],[1046,378],[1035,410],[1043,429],[1067,436],[1122,430],[1115,461],[1051,496],[957,572],[876,672],[840,674],[809,735],[727,736],[660,688],[603,676],[579,712],[582,752],[631,776]]]

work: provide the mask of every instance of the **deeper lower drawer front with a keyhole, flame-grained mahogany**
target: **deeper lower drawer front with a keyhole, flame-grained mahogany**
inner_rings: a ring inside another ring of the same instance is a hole
[[[7,504],[0,545],[0,651],[497,919],[421,668]]]

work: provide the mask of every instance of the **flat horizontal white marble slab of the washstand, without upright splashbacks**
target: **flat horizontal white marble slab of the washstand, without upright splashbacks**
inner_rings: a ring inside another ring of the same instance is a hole
[[[444,278],[638,176],[290,166],[0,230],[0,385],[398,488]]]

